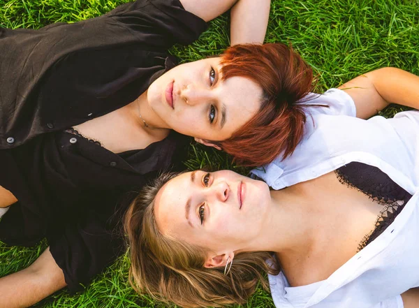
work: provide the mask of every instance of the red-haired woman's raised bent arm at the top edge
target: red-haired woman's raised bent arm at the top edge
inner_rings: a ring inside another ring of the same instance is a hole
[[[180,0],[180,2],[185,10],[206,22],[231,8],[231,45],[263,43],[265,39],[270,0]]]

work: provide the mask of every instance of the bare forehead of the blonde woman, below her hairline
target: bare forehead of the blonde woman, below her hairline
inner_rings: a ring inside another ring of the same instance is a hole
[[[170,226],[187,223],[184,218],[184,205],[191,191],[191,173],[183,173],[170,179],[156,195],[154,201],[154,217],[161,233],[166,233]],[[183,219],[182,219],[183,217]]]

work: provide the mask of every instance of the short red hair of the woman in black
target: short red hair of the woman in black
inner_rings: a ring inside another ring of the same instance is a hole
[[[302,99],[313,89],[311,67],[281,43],[245,44],[221,54],[223,80],[249,78],[263,89],[260,110],[223,141],[210,141],[243,166],[262,166],[279,154],[291,155],[304,133]],[[299,103],[297,103],[299,102]]]

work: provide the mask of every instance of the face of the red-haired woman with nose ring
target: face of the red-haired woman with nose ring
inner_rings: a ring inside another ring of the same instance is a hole
[[[247,78],[221,80],[220,58],[172,68],[150,85],[150,107],[169,129],[204,140],[226,140],[260,108],[262,89]]]

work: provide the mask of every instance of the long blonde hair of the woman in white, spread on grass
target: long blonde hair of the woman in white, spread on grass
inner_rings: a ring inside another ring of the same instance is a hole
[[[138,293],[182,307],[242,304],[260,283],[268,290],[266,272],[279,270],[267,251],[236,254],[228,275],[224,267],[204,267],[207,250],[163,235],[154,219],[154,200],[161,187],[179,173],[166,173],[133,200],[124,219],[131,249],[129,281]],[[267,265],[267,260],[271,259]]]

